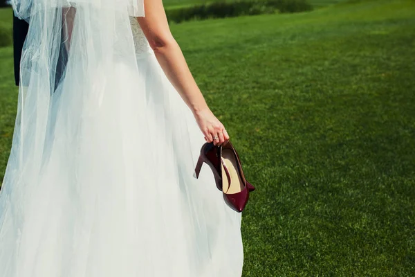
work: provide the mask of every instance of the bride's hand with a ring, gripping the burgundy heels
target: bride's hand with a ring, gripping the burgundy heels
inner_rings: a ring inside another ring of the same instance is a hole
[[[229,135],[221,121],[210,111],[205,108],[201,111],[194,112],[194,118],[205,135],[205,141],[214,145],[223,145],[228,143]]]

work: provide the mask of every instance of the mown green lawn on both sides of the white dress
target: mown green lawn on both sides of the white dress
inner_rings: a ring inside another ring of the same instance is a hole
[[[415,1],[353,2],[172,25],[257,186],[244,277],[415,276]],[[3,173],[11,48],[0,64]]]

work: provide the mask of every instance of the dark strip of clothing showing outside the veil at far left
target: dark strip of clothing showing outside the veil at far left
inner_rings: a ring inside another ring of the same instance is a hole
[[[15,57],[15,83],[17,86],[19,85],[21,49],[28,34],[28,29],[29,24],[26,21],[13,15],[13,53]]]

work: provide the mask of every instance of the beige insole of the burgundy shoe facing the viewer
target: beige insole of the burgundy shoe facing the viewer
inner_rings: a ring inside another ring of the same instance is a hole
[[[222,165],[222,190],[226,194],[239,193],[243,190],[243,181],[238,171],[238,161],[234,155],[234,152],[230,149],[222,150],[222,159],[228,169],[230,175],[230,184],[228,182],[228,175],[226,175],[225,168]]]

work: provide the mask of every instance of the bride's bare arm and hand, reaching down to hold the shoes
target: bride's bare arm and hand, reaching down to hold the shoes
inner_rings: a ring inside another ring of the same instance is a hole
[[[144,0],[144,5],[145,17],[138,17],[138,23],[167,78],[192,110],[205,140],[213,141],[215,145],[227,142],[229,136],[225,127],[210,111],[190,73],[180,46],[170,32],[162,0]],[[219,139],[214,140],[215,136]]]

